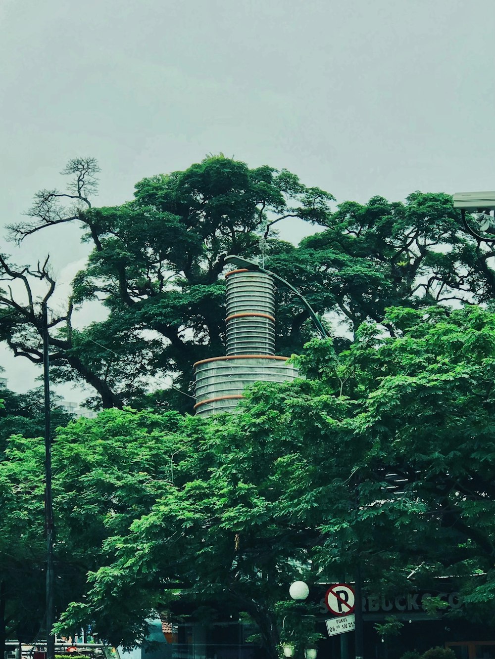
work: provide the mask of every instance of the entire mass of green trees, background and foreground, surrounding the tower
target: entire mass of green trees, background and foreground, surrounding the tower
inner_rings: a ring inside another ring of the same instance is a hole
[[[51,370],[94,387],[90,404],[120,408],[57,431],[57,628],[91,623],[101,639],[133,645],[152,612],[216,599],[248,614],[275,657],[287,584],[352,577],[358,563],[378,594],[413,581],[435,592],[436,577],[459,577],[471,615],[489,619],[495,315],[472,303],[495,297],[493,248],[459,229],[451,198],[414,192],[332,210],[331,194],[287,171],[214,156],[144,179],[121,206],[92,208],[96,171],[71,161],[70,194],[42,190],[33,221],[13,227],[20,239],[84,227],[94,249],[67,314],[50,314]],[[283,243],[269,231],[288,217],[322,230]],[[306,379],[257,384],[238,415],[193,418],[183,415],[191,364],[223,353],[232,252],[263,252],[348,338],[312,338],[306,310],[279,289],[278,348],[301,353]],[[39,362],[29,281],[48,285],[46,301],[55,281],[46,264],[16,270],[0,256],[0,266],[28,297],[0,291],[0,340]],[[73,328],[74,306],[94,299],[108,318]],[[156,374],[173,386],[149,391]],[[0,411],[0,612],[26,639],[44,614],[37,395],[7,392]]]

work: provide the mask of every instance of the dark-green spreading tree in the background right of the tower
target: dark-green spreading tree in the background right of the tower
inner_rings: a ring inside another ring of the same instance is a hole
[[[449,194],[343,202],[327,226],[290,254],[271,256],[269,266],[353,332],[367,320],[382,324],[390,306],[455,306],[495,297],[494,247],[465,233]],[[279,317],[288,314],[284,326],[289,318],[299,320],[297,302],[279,294]],[[294,337],[292,331],[282,341],[299,351]]]

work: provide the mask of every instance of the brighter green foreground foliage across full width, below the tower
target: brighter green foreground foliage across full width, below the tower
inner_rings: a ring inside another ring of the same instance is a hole
[[[357,561],[376,593],[458,575],[469,611],[490,616],[495,315],[395,308],[387,323],[393,337],[365,324],[339,354],[315,339],[306,380],[257,384],[238,415],[109,410],[60,429],[59,614],[75,603],[59,627],[132,644],[153,610],[218,598],[273,653],[286,585]],[[42,590],[42,456],[15,436],[0,463],[4,596],[26,634],[42,625],[21,594],[25,579]]]

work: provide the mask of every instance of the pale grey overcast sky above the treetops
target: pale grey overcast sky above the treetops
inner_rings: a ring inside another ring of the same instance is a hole
[[[1,0],[0,22],[4,223],[86,155],[101,205],[220,151],[339,201],[495,187],[494,0]],[[1,247],[63,281],[85,249],[75,227]]]

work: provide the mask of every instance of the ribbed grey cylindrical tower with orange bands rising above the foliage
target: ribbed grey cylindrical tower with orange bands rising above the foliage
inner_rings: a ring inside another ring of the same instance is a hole
[[[265,273],[232,270],[226,274],[227,355],[195,366],[195,411],[208,416],[232,412],[244,387],[259,380],[294,380],[297,369],[275,353],[275,290]]]

